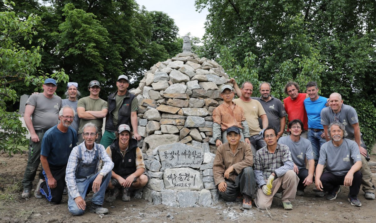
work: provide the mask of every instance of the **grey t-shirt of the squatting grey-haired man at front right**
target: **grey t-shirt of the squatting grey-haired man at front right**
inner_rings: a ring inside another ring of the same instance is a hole
[[[333,140],[327,141],[320,148],[318,164],[326,163],[326,171],[337,176],[346,174],[356,161],[361,161],[358,144],[349,139],[343,139],[343,143],[336,147]]]

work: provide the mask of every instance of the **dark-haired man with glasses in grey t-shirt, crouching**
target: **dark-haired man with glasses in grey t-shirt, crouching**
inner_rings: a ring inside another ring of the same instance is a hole
[[[299,177],[296,194],[304,195],[304,189],[313,183],[315,172],[315,160],[313,159],[312,145],[306,138],[300,137],[302,134],[303,122],[294,119],[288,123],[291,135],[279,138],[278,143],[288,146],[294,162],[294,171]],[[306,169],[305,159],[308,161]]]

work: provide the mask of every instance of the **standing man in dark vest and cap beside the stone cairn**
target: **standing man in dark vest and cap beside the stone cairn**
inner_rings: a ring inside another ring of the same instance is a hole
[[[118,90],[108,96],[108,113],[106,116],[105,133],[100,144],[107,148],[115,140],[115,131],[121,124],[131,126],[136,140],[141,140],[137,131],[138,100],[134,94],[127,91],[129,86],[128,77],[120,75],[116,82]]]

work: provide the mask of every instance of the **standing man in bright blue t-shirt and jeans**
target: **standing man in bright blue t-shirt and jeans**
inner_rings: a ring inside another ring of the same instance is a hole
[[[306,88],[309,98],[304,100],[304,106],[308,116],[308,140],[311,141],[315,165],[317,165],[320,147],[326,143],[320,113],[325,108],[327,98],[318,96],[317,83],[314,81],[308,82]]]

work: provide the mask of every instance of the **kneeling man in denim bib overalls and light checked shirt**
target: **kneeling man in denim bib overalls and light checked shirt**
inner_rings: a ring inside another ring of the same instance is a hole
[[[108,157],[105,147],[95,143],[98,138],[98,129],[95,124],[86,123],[82,128],[82,137],[85,141],[73,148],[65,173],[69,194],[68,210],[73,215],[85,213],[85,196],[92,189],[94,194],[91,198],[90,212],[106,214],[108,209],[103,208],[102,204],[114,163]],[[105,164],[97,173],[100,159]]]

